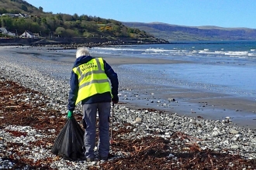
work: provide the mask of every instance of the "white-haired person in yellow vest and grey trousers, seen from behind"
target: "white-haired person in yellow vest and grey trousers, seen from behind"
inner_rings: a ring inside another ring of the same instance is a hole
[[[67,118],[79,102],[82,104],[85,128],[85,159],[95,160],[96,114],[99,114],[99,158],[107,160],[109,155],[109,117],[111,101],[117,104],[118,76],[102,58],[90,56],[88,49],[79,48],[71,71]],[[110,80],[110,82],[109,82]]]

